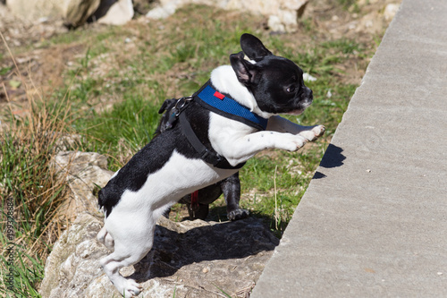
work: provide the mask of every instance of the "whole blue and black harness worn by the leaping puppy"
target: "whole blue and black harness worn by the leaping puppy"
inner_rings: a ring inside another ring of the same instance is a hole
[[[165,129],[172,128],[177,119],[179,119],[181,132],[190,141],[191,146],[198,152],[199,157],[205,162],[223,169],[238,169],[244,166],[245,163],[236,166],[230,165],[226,158],[215,152],[215,149],[207,148],[198,140],[198,136],[192,129],[186,114],[182,113],[192,100],[209,111],[245,123],[259,131],[266,130],[267,119],[252,113],[247,107],[241,106],[237,101],[230,98],[229,95],[218,92],[211,81],[207,81],[191,97],[178,99],[175,106],[167,112],[170,115],[168,121],[165,123]]]

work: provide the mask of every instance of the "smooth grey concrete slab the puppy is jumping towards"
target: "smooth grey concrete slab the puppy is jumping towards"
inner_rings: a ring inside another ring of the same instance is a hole
[[[447,1],[403,0],[259,297],[447,297]]]

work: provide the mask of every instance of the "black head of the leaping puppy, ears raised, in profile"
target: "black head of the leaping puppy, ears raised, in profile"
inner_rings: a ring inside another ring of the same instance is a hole
[[[312,90],[304,85],[303,71],[297,64],[273,55],[251,34],[240,37],[240,47],[242,52],[230,55],[232,69],[263,112],[299,115],[310,106]]]

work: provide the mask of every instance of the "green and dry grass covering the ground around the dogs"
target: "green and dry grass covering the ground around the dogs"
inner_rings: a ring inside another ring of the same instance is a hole
[[[316,35],[312,21],[302,22],[304,32]],[[47,98],[32,101],[30,118],[18,122],[11,117],[12,129],[0,135],[0,191],[3,210],[7,198],[14,200],[16,268],[14,292],[7,292],[3,284],[0,294],[39,296],[46,255],[62,230],[54,215],[66,195],[65,184],[49,166],[57,136],[82,135],[79,147],[72,149],[105,154],[110,169],[120,168],[151,139],[163,100],[190,95],[216,66],[229,64],[229,55],[240,51],[244,32],[254,33],[274,54],[316,77],[317,81],[307,83],[314,91],[312,106],[303,115],[288,118],[304,125],[325,124],[327,129],[325,137],[297,153],[269,150],[250,159],[240,171],[240,206],[281,237],[357,88],[342,82],[339,66],[352,59],[366,65],[373,53],[368,47],[376,45],[348,38],[291,43],[289,35],[255,30],[259,24],[257,17],[191,5],[163,22],[70,31],[39,44],[45,48],[74,43],[85,52],[64,72],[63,86],[55,86]],[[0,54],[0,60],[6,58]],[[9,71],[0,69],[0,74]],[[210,218],[225,220],[223,206],[223,198],[215,201]],[[5,214],[0,220],[2,231],[4,218]],[[173,218],[181,219],[178,214]],[[0,234],[0,243],[4,274],[9,243],[5,234]]]

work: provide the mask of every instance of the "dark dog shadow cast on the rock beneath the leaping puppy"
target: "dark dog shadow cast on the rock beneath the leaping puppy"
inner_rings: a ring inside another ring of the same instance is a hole
[[[205,223],[184,233],[157,225],[154,246],[135,264],[131,278],[142,283],[154,277],[171,277],[186,265],[243,259],[260,251],[273,251],[278,244],[279,239],[268,227],[253,217],[214,225]]]

